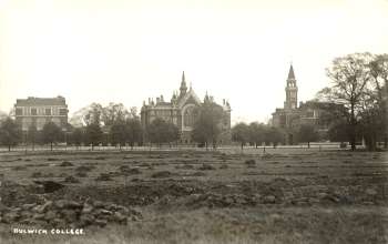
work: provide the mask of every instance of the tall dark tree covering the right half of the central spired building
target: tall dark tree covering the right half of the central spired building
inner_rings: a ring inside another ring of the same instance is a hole
[[[196,108],[196,120],[192,131],[192,139],[197,143],[206,145],[206,149],[208,144],[212,144],[215,149],[221,134],[219,124],[223,111],[219,105],[206,98],[204,103],[200,108]]]

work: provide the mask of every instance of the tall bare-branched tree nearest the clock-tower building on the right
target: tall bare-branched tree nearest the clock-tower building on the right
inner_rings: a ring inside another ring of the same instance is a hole
[[[331,79],[333,84],[320,91],[330,101],[343,103],[347,108],[344,116],[349,126],[351,150],[356,150],[357,118],[367,84],[371,79],[369,72],[371,58],[370,53],[354,53],[336,58],[331,67],[327,69],[327,75]]]

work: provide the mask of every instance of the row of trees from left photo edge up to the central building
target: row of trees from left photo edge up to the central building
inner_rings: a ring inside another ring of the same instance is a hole
[[[114,145],[121,149],[123,145],[133,148],[142,143],[142,126],[134,108],[126,110],[121,103],[110,103],[103,108],[98,103],[88,106],[82,113],[83,124],[74,128],[67,124],[61,128],[54,122],[47,122],[42,130],[37,130],[37,124],[31,124],[24,133],[21,125],[10,116],[0,122],[0,144],[8,146],[10,151],[22,142],[34,150],[37,144],[49,144],[53,150],[57,143],[65,143],[76,148],[81,145]]]

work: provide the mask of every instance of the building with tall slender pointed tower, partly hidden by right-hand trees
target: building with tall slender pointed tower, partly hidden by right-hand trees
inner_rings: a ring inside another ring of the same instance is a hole
[[[331,102],[307,101],[298,104],[298,87],[293,65],[289,67],[286,80],[286,101],[284,108],[276,109],[272,114],[273,126],[283,129],[285,132],[284,143],[294,144],[295,133],[302,124],[310,124],[320,134],[321,139],[327,138],[330,120],[324,120],[327,111],[341,110],[343,105]]]

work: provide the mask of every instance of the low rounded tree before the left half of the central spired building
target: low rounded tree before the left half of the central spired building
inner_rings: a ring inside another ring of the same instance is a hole
[[[178,138],[178,130],[173,123],[156,118],[147,128],[151,143],[156,143],[161,146],[163,143],[171,143]]]

